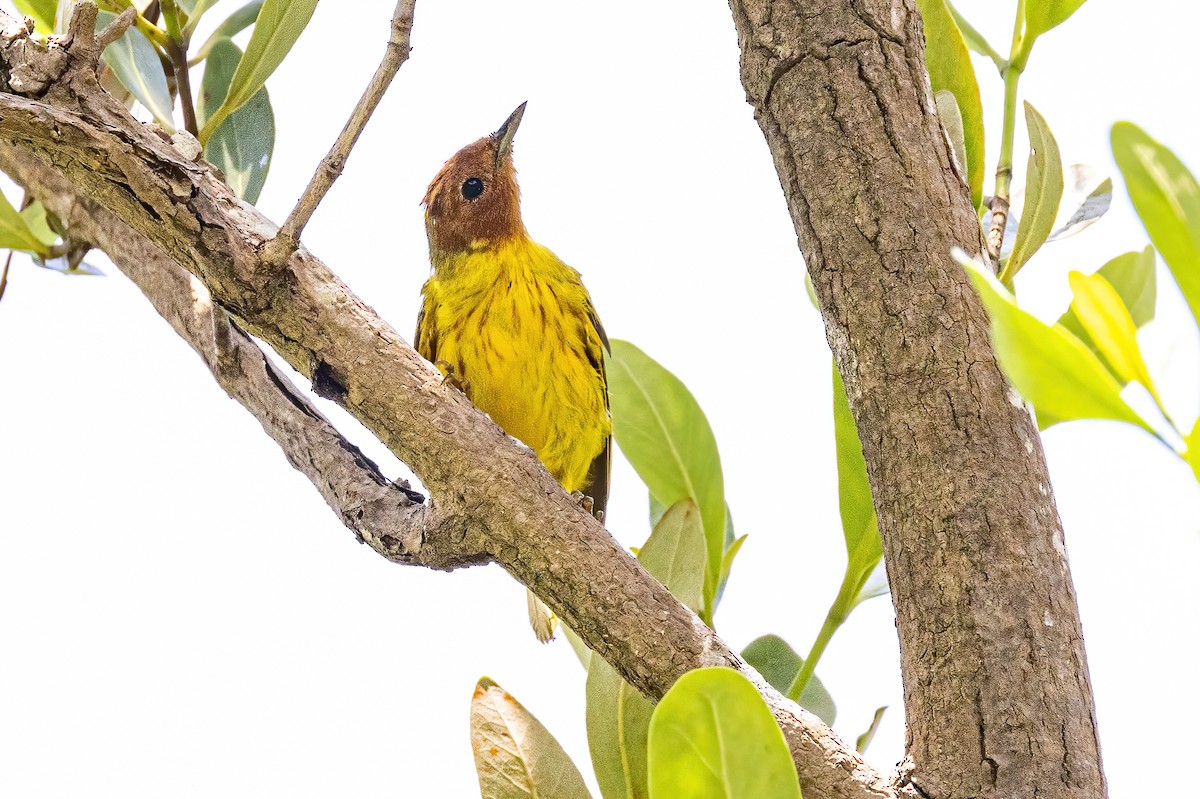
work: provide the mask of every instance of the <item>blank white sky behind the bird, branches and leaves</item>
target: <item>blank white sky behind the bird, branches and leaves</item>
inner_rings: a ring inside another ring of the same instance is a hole
[[[322,4],[271,79],[269,217],[282,221],[341,128],[392,5]],[[1013,4],[998,16],[996,5],[960,8],[1003,49]],[[1132,119],[1200,170],[1198,26],[1190,6],[1092,0],[1046,35],[1022,96],[1064,161],[1114,170],[1109,126]],[[528,100],[516,157],[530,232],[583,272],[608,334],[673,370],[716,432],[737,529],[750,534],[719,631],[738,648],[775,632],[806,653],[844,565],[828,350],[727,7],[424,0],[413,43],[305,242],[408,335],[428,271],[425,185]],[[977,70],[990,173],[1000,82],[990,62]],[[1024,148],[1019,132],[1019,169]],[[1026,268],[1022,299],[1054,317],[1069,269],[1145,241],[1118,182],[1105,220]],[[482,674],[589,775],[584,674],[564,642],[534,641],[523,590],[496,566],[433,573],[355,543],[110,271],[65,278],[17,258],[0,304],[0,794],[478,795],[467,713]],[[1198,336],[1177,294],[1162,294],[1168,322],[1144,346],[1168,402],[1192,419]],[[1200,715],[1200,488],[1132,429],[1076,422],[1045,446],[1111,793],[1171,795],[1178,770],[1160,764],[1195,753]],[[619,462],[613,534],[641,543],[646,510]],[[818,673],[847,739],[890,705],[868,753],[890,769],[904,731],[887,600],[854,613]]]

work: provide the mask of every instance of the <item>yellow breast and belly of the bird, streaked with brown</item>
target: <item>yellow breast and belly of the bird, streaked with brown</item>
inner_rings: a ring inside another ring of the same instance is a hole
[[[578,272],[526,238],[434,263],[418,349],[578,491],[612,429],[604,340]]]

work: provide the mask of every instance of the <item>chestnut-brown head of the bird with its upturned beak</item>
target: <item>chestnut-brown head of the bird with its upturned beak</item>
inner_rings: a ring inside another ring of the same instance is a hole
[[[512,168],[512,137],[524,103],[496,133],[458,150],[425,192],[430,257],[493,250],[526,235],[521,196]]]

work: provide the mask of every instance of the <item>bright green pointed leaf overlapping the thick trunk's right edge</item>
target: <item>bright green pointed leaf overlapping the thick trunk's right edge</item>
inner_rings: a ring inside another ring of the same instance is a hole
[[[1154,431],[1121,398],[1121,385],[1082,342],[1060,325],[1021,311],[986,266],[955,248],[988,316],[991,341],[1013,388],[1048,420],[1114,419]]]

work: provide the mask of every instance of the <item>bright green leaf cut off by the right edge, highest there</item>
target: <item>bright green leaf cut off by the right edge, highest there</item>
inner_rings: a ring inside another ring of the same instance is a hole
[[[1200,186],[1175,154],[1133,122],[1112,126],[1129,199],[1200,325]]]

